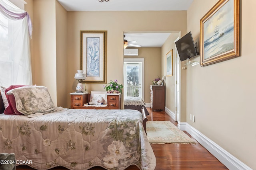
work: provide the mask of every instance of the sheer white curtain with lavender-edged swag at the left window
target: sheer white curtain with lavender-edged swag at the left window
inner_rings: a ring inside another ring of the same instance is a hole
[[[32,85],[30,37],[32,24],[26,11],[0,0],[0,85]]]

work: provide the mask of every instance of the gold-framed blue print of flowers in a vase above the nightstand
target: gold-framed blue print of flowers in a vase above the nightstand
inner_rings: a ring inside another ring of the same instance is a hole
[[[107,31],[80,31],[80,70],[85,83],[106,83]]]

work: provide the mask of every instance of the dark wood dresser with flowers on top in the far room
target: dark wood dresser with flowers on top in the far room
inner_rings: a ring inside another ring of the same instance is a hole
[[[165,108],[165,86],[150,86],[150,107],[152,110],[162,110]]]

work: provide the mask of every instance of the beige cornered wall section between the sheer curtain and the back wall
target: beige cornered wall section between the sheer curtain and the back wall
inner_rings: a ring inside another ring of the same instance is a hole
[[[55,106],[66,107],[67,11],[58,1],[26,2],[25,10],[33,25],[30,40],[33,84],[48,87]]]

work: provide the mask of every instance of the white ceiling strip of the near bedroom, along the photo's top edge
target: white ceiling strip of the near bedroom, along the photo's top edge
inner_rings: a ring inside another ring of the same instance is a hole
[[[188,10],[193,0],[58,0],[67,11],[169,11]]]

